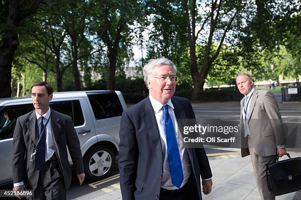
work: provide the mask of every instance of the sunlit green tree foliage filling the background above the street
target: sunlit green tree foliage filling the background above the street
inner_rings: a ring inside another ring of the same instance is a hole
[[[7,15],[8,2],[0,2],[0,16]],[[205,85],[234,84],[239,72],[252,74],[256,81],[300,78],[298,0],[216,2],[215,6],[222,4],[215,24],[210,18],[205,21],[212,2],[199,0],[196,3],[196,32],[204,23],[204,29],[196,39],[198,73],[204,65],[211,66]],[[191,0],[187,6],[191,12]],[[232,25],[227,27],[236,11]],[[213,21],[216,13],[217,10],[213,12]],[[0,18],[0,38],[4,25],[5,18]],[[209,44],[211,26],[214,33]],[[189,97],[193,81],[186,28],[181,0],[45,1],[36,13],[20,24],[20,45],[13,59],[13,94],[16,94],[18,82],[21,89],[27,90],[33,82],[42,79],[43,71],[47,73],[47,81],[57,90],[57,65],[62,73],[62,89],[74,90],[70,66],[74,61],[72,37],[75,37],[82,89],[106,89],[110,63],[114,60],[112,55],[115,55],[114,89],[122,91],[132,102],[145,97],[148,91],[143,80],[130,80],[124,71],[133,62],[133,45],[142,45],[147,50],[144,60],[166,56],[176,64],[179,76],[176,94]],[[226,28],[229,30],[214,58]],[[140,63],[136,65],[140,66]]]

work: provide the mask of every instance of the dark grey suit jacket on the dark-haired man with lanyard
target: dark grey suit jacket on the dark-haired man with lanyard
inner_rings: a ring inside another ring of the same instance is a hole
[[[81,174],[84,173],[84,165],[80,143],[69,116],[52,109],[50,115],[55,153],[63,174],[65,188],[68,189],[71,183],[71,168],[66,146],[68,146],[76,174]],[[37,134],[34,110],[17,119],[13,135],[13,182],[24,181],[25,188],[29,190],[35,190],[39,176],[39,171],[34,168],[34,162],[30,161],[30,155],[37,143]]]

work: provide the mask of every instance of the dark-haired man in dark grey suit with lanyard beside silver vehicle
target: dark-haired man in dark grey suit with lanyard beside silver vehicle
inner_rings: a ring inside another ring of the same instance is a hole
[[[33,200],[66,199],[66,190],[71,183],[66,146],[80,184],[85,178],[80,143],[72,119],[49,108],[52,92],[51,85],[46,82],[31,86],[35,110],[17,119],[13,134],[13,190],[34,190]]]

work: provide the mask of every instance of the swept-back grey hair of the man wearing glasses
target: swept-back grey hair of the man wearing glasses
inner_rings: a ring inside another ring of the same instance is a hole
[[[146,84],[146,86],[149,88],[147,79],[150,78],[150,76],[153,75],[153,70],[155,67],[160,67],[162,65],[171,65],[174,68],[175,75],[177,74],[177,67],[176,65],[169,60],[168,58],[165,57],[160,57],[157,59],[151,59],[148,61],[148,63],[143,67],[143,79]]]

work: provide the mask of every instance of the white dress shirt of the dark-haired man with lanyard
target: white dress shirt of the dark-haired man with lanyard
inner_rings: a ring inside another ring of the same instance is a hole
[[[51,110],[48,109],[48,111],[44,115],[42,115],[44,117],[44,119],[43,119],[44,125],[47,123],[47,120],[50,117],[50,113],[51,113]],[[36,110],[35,110],[35,115],[36,115],[36,119],[37,119],[37,124],[39,125],[41,122],[41,119],[40,119],[41,115],[38,114],[36,112]],[[46,152],[45,152],[45,162],[46,162],[47,160],[49,160],[52,157],[52,155],[55,152],[55,146],[54,146],[53,138],[52,138],[51,118],[46,126],[46,132],[44,132],[44,134],[45,133],[46,133]],[[24,182],[21,181],[19,183],[14,183],[14,187],[20,186],[20,185],[24,185]]]

